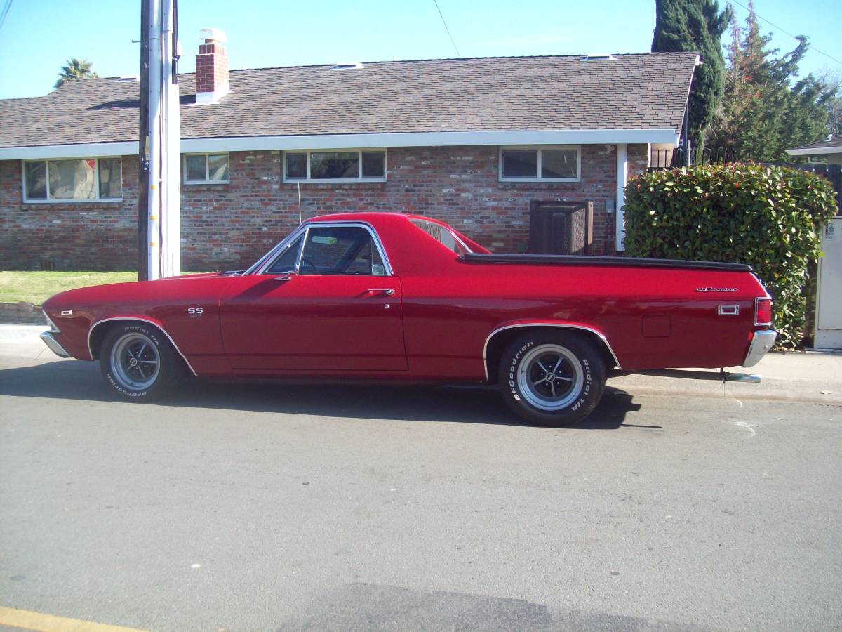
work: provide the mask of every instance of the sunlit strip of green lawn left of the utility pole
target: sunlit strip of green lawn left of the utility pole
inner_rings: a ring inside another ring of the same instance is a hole
[[[137,281],[137,272],[9,272],[0,270],[0,303],[40,305],[58,292],[74,287]]]

